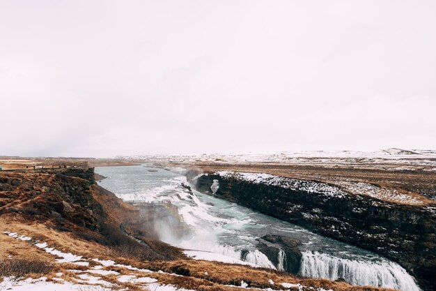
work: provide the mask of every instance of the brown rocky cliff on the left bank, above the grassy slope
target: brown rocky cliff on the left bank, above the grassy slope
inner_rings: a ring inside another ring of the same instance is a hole
[[[10,214],[147,259],[185,257],[150,237],[138,220],[139,209],[95,184],[92,167],[2,172],[0,216]]]

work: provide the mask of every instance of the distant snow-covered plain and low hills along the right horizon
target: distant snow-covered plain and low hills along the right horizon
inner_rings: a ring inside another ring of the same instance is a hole
[[[436,150],[395,148],[380,151],[283,151],[280,153],[118,156],[117,158],[176,163],[284,163],[436,171]]]

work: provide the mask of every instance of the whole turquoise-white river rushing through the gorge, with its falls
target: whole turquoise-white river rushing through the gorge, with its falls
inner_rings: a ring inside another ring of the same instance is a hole
[[[395,262],[355,246],[321,237],[302,227],[286,223],[217,197],[189,192],[180,174],[143,166],[99,167],[96,172],[108,179],[99,184],[125,201],[149,204],[171,204],[187,225],[182,234],[173,222],[155,218],[159,239],[185,248],[187,255],[201,260],[218,260],[249,264],[283,271],[286,253],[280,250],[277,265],[257,248],[265,234],[291,237],[302,242],[299,274],[313,278],[343,278],[355,285],[372,285],[403,291],[419,291],[414,278]],[[214,181],[214,188],[219,181]],[[212,186],[212,185],[211,185]],[[180,223],[180,222],[178,222]]]

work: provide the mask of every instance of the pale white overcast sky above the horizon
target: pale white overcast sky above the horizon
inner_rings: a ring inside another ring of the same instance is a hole
[[[436,149],[436,1],[0,0],[0,155]]]

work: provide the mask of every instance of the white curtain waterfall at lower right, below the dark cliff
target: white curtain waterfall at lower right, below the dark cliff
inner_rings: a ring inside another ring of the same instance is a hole
[[[343,278],[353,285],[371,285],[402,291],[420,291],[414,278],[399,264],[336,258],[325,253],[302,253],[299,275],[336,280]]]

